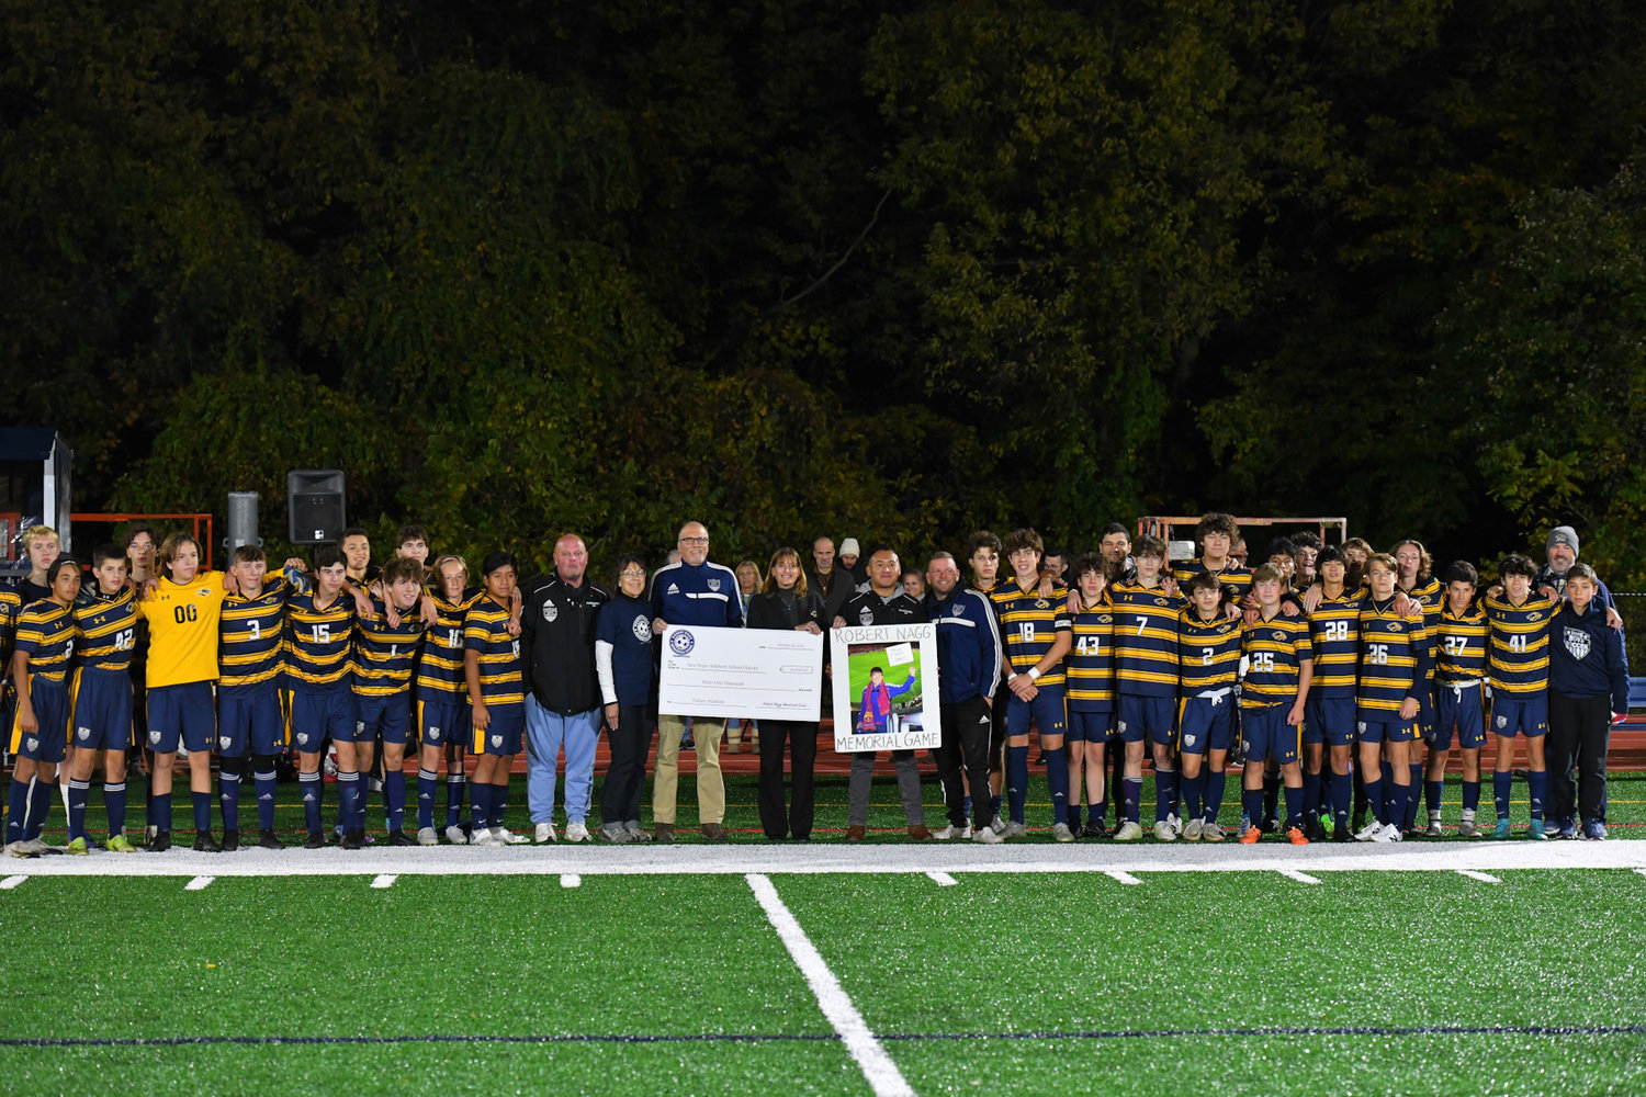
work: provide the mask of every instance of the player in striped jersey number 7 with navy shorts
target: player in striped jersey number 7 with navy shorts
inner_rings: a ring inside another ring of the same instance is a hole
[[[1109,584],[1109,604],[1114,607],[1114,686],[1119,694],[1116,725],[1126,743],[1126,822],[1114,832],[1114,840],[1134,842],[1142,837],[1142,752],[1144,742],[1149,742],[1154,750],[1154,835],[1170,842],[1177,837],[1177,827],[1172,826],[1177,801],[1172,740],[1179,678],[1177,613],[1183,600],[1160,581],[1160,569],[1165,567],[1165,543],[1160,538],[1141,536],[1132,551],[1137,579]]]

